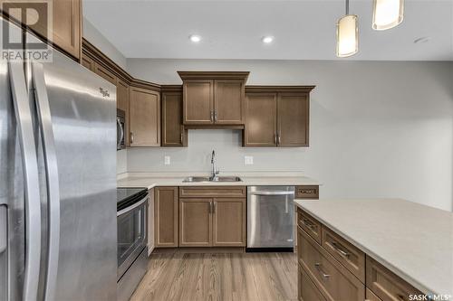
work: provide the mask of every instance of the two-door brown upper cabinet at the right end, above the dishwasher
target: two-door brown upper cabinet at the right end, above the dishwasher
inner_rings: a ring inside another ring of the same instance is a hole
[[[313,88],[246,87],[244,146],[308,146]]]

